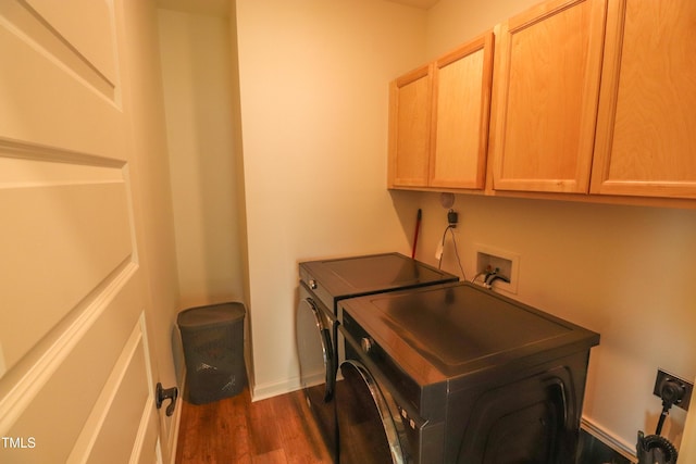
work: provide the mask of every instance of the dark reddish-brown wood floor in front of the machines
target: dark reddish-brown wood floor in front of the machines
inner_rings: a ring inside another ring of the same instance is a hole
[[[252,403],[245,387],[214,403],[182,403],[178,464],[331,462],[301,391]]]

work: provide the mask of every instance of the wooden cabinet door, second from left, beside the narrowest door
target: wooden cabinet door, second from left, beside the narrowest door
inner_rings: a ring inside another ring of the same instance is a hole
[[[483,189],[488,149],[493,33],[437,60],[430,185]]]

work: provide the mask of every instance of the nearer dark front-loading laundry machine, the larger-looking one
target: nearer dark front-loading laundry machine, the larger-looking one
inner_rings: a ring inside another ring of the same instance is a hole
[[[341,464],[574,464],[599,334],[470,283],[344,300]]]

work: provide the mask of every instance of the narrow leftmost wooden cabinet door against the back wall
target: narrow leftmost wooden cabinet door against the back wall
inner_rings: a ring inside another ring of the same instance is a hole
[[[397,78],[389,88],[389,188],[427,185],[432,66]]]

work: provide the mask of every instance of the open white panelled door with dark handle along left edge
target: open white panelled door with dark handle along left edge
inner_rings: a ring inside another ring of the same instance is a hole
[[[0,1],[0,462],[161,461],[120,0]]]

